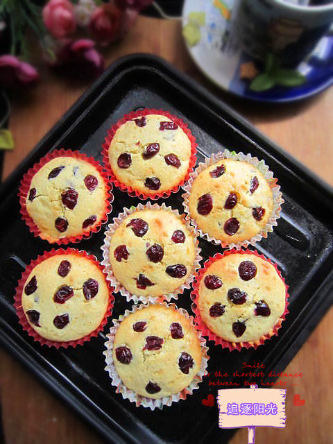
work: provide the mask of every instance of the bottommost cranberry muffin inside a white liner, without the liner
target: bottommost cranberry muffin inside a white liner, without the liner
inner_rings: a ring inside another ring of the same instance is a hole
[[[126,388],[157,399],[189,386],[200,370],[203,350],[189,318],[171,307],[150,305],[122,318],[112,360]]]

